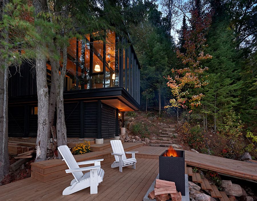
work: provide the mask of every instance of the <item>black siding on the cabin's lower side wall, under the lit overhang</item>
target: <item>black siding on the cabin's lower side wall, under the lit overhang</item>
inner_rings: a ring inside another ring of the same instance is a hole
[[[113,138],[115,135],[115,109],[102,103],[102,138]]]

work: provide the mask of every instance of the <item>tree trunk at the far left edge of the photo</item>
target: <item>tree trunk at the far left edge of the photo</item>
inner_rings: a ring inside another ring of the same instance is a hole
[[[0,3],[0,20],[4,14],[5,4],[8,0]],[[8,44],[8,30],[4,30],[0,41]],[[6,46],[0,44],[1,50],[5,50]],[[0,51],[0,182],[3,177],[9,173],[9,153],[8,153],[8,66],[7,60],[3,60]],[[3,64],[3,65],[2,65]]]

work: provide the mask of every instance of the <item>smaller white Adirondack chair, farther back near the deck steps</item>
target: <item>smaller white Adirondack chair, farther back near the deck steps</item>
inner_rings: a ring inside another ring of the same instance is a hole
[[[115,161],[111,165],[112,168],[119,167],[120,172],[122,172],[122,167],[132,165],[132,168],[136,169],[135,153],[138,153],[138,151],[125,152],[120,140],[111,140],[111,145],[113,149],[111,154],[115,157]],[[126,154],[132,154],[132,158],[127,159]]]

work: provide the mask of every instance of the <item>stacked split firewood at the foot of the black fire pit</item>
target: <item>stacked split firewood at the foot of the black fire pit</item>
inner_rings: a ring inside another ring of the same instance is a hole
[[[156,179],[154,190],[148,194],[148,198],[157,201],[166,201],[170,198],[172,201],[181,201],[181,193],[176,190],[176,185],[171,181]]]

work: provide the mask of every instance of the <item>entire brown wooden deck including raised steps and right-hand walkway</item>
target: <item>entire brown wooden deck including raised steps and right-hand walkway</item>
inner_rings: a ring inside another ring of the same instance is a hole
[[[0,186],[0,201],[142,201],[159,172],[158,157],[167,148],[139,147],[142,146],[140,144],[123,143],[125,151],[139,152],[136,154],[135,170],[131,166],[124,167],[123,172],[119,172],[119,168],[111,168],[111,163],[114,161],[114,157],[109,156],[112,152],[111,148],[75,156],[77,161],[105,158],[101,163],[103,164],[101,168],[105,170],[105,176],[103,182],[98,186],[98,194],[91,195],[90,188],[86,188],[71,195],[63,196],[62,191],[70,185],[73,176],[70,173],[65,173],[64,169],[67,169],[67,166],[63,161],[55,159],[35,163],[35,168],[39,167],[39,169],[35,169],[35,172],[39,171],[39,174],[46,176],[46,178],[53,177],[51,180],[46,179],[45,182],[41,182],[35,178],[27,178]],[[190,151],[185,151],[185,161],[187,165],[257,180],[257,164],[255,163],[234,161]],[[197,175],[195,177],[197,182]],[[206,185],[207,182],[204,182],[204,184]]]

